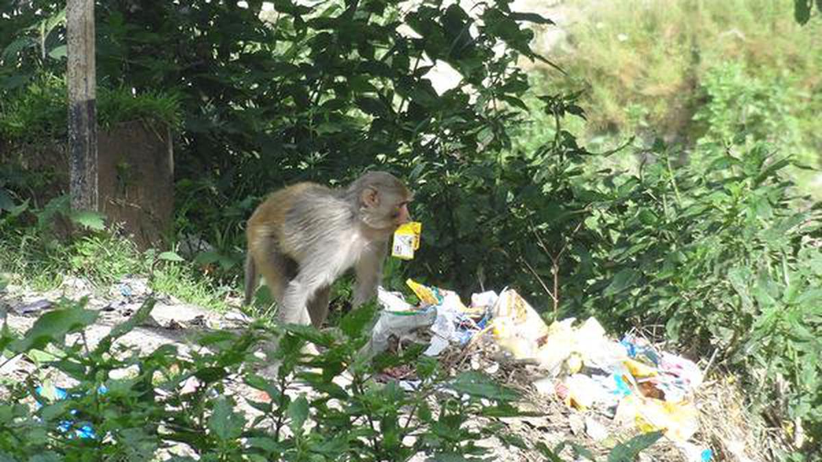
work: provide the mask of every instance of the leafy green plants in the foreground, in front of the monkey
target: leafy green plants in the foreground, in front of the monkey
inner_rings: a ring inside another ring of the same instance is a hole
[[[467,457],[487,452],[475,444],[478,439],[505,433],[502,424],[469,428],[472,418],[518,413],[511,406],[515,391],[474,372],[445,377],[436,359],[419,348],[370,366],[358,350],[367,342],[373,309],[344,317],[339,330],[289,330],[268,359],[282,362],[269,379],[255,372],[261,360],[253,352],[270,340],[270,329],[261,324],[202,333],[189,353],[171,344],[145,353],[114,346],[145,321],[153,305],[146,301],[97,344],[72,335],[98,316],[82,302],[44,314],[22,337],[2,331],[0,351],[7,360],[18,354],[45,358],[25,381],[0,385],[4,460],[150,460],[169,445],[187,448],[198,460],[404,460],[420,451]],[[310,363],[300,355],[306,339],[327,348]],[[296,369],[302,364],[321,372]],[[371,380],[379,367],[398,364],[417,368],[418,390]],[[67,377],[64,399],[54,399],[47,378],[54,372],[47,374],[46,367]],[[345,367],[348,385],[332,382]],[[312,394],[294,393],[295,381]],[[196,386],[187,390],[191,383]],[[270,400],[258,398],[263,394]],[[35,396],[38,409],[30,406]]]

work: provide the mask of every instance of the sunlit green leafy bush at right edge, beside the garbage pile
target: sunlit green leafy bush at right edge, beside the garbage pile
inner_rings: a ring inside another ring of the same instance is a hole
[[[674,169],[659,144],[639,174],[598,179],[580,307],[621,328],[662,323],[695,351],[716,350],[720,363],[746,372],[760,409],[776,404],[771,418],[797,418],[816,447],[820,206],[797,206],[784,179],[791,159],[765,144],[702,149],[704,164]]]

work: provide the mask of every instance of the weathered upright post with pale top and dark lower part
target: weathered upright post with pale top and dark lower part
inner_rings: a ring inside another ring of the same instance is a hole
[[[95,0],[68,0],[66,32],[72,209],[98,210]]]

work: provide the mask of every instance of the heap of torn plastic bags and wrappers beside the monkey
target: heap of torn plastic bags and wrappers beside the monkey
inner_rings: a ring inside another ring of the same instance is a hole
[[[711,459],[709,449],[688,442],[699,428],[694,394],[703,379],[690,360],[659,352],[635,335],[611,340],[593,317],[547,326],[513,289],[475,293],[466,306],[450,290],[413,280],[406,284],[419,299],[417,306],[401,293],[378,290],[384,310],[372,331],[372,353],[388,348],[392,336],[415,339],[414,333],[426,328],[429,356],[452,344],[490,339],[512,360],[535,366],[539,377],[533,385],[540,393],[575,409],[595,409],[641,432],[662,431],[689,460]]]

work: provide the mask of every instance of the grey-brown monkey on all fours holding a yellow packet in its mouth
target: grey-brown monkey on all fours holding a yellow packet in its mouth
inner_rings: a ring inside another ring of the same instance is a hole
[[[363,174],[332,190],[301,182],[272,193],[248,219],[245,303],[259,275],[279,305],[279,321],[320,327],[330,286],[357,275],[353,307],[376,296],[388,240],[409,222],[412,195],[390,173]]]

